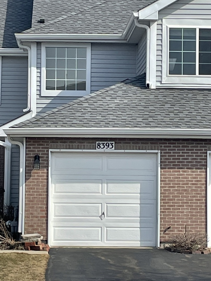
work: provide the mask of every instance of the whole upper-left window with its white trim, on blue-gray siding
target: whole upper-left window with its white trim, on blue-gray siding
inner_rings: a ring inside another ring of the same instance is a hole
[[[90,93],[90,44],[42,44],[43,96]]]

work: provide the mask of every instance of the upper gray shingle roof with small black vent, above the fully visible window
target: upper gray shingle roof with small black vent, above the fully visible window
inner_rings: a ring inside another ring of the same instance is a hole
[[[132,12],[155,0],[34,0],[32,28],[26,33],[122,34]],[[45,23],[39,23],[39,19]]]

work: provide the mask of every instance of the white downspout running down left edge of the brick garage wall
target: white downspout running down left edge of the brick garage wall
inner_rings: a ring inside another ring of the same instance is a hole
[[[24,181],[24,149],[23,144],[19,141],[12,140],[7,136],[11,144],[16,144],[20,147],[20,167],[19,167],[19,213],[18,213],[18,232],[23,230],[23,181]]]

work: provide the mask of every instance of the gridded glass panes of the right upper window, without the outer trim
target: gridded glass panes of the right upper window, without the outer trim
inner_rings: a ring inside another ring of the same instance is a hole
[[[169,28],[169,75],[211,75],[211,29]]]

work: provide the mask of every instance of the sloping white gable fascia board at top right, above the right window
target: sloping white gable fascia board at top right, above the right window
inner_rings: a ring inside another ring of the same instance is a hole
[[[151,5],[139,10],[139,19],[157,20],[158,12],[176,1],[177,0],[158,0]]]

